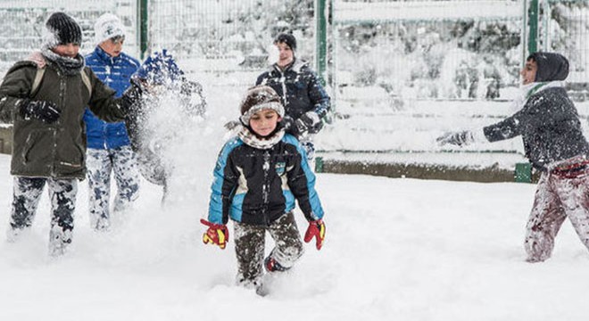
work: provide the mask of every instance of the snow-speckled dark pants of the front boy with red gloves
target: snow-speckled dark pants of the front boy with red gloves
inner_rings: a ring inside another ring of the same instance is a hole
[[[288,212],[270,226],[253,226],[235,222],[237,284],[260,286],[266,231],[274,239],[275,247],[270,257],[284,268],[291,268],[303,255],[303,242],[296,226],[293,212]]]

